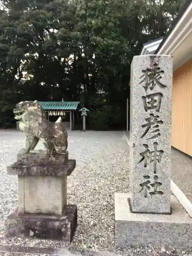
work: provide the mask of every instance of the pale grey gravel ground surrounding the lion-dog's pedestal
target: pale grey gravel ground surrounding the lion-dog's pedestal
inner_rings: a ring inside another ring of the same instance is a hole
[[[23,147],[24,135],[1,130],[0,143],[0,246],[66,248],[58,241],[4,237],[4,218],[17,205],[17,177],[7,175],[6,166],[16,160],[18,150]],[[39,143],[38,148],[41,147]],[[126,252],[115,253],[114,193],[129,191],[129,146],[122,132],[69,132],[69,156],[77,161],[68,179],[68,203],[78,205],[78,227],[73,242],[66,248],[76,253],[65,255],[79,255],[81,251],[80,255],[84,256],[97,253],[103,256],[192,256],[185,251],[164,248],[129,248]],[[100,250],[105,252],[102,254]],[[16,254],[0,252],[0,255]]]

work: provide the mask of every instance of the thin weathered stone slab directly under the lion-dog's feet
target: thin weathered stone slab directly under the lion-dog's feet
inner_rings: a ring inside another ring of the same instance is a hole
[[[17,154],[17,162],[19,164],[49,164],[49,165],[56,165],[56,164],[63,164],[69,159],[69,152],[63,154],[48,154],[45,151],[38,150],[38,151],[31,151],[28,154]]]

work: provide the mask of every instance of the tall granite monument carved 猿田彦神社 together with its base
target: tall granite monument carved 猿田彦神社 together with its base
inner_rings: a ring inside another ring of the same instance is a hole
[[[183,246],[188,230],[192,230],[190,218],[170,190],[172,76],[172,56],[141,55],[133,58],[131,193],[115,194],[116,243],[120,247],[126,244]],[[181,218],[181,213],[186,218]],[[182,226],[180,230],[178,225]]]

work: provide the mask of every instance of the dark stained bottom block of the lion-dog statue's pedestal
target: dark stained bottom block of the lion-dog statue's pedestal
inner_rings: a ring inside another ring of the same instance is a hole
[[[5,220],[6,238],[22,235],[71,243],[77,227],[77,206],[67,205],[61,218],[49,215],[19,215],[14,210]]]

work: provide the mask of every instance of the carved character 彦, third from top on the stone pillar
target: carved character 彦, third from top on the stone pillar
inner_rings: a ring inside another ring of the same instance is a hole
[[[151,131],[153,135],[152,137],[148,138],[147,140],[150,139],[156,139],[157,137],[161,136],[160,130],[159,130],[159,124],[162,124],[162,120],[159,118],[159,116],[155,116],[154,114],[150,114],[150,117],[145,118],[146,123],[142,124],[142,128],[146,128],[145,132],[143,133],[143,135],[141,136],[141,138],[143,138],[148,131],[150,131],[150,129],[154,129],[153,131]]]

